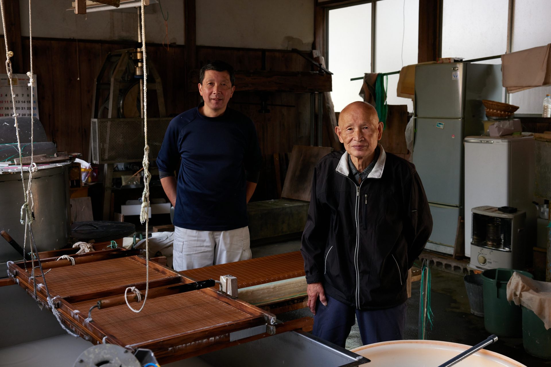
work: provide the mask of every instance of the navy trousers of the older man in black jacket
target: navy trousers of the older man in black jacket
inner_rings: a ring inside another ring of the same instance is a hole
[[[381,310],[358,310],[326,294],[327,306],[316,304],[312,333],[344,348],[355,317],[360,327],[361,342],[366,344],[403,339],[406,325],[406,303]],[[355,317],[354,317],[355,316]]]

